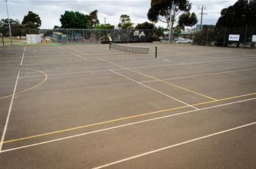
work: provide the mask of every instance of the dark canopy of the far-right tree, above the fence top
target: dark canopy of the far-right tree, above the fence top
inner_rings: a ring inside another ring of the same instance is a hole
[[[256,1],[238,0],[234,5],[224,8],[216,27],[256,27]]]

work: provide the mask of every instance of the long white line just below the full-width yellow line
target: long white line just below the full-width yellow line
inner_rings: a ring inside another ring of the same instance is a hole
[[[221,106],[227,106],[227,105],[230,105],[230,104],[237,104],[237,103],[241,103],[241,102],[247,102],[247,101],[250,101],[250,100],[253,100],[253,99],[256,99],[256,97],[254,98],[251,98],[251,99],[244,99],[244,100],[240,100],[240,101],[237,101],[237,102],[231,102],[231,103],[228,103],[228,104],[220,104],[220,105],[217,105],[217,106],[211,106],[211,107],[208,107],[208,108],[201,108],[199,110],[190,110],[190,111],[187,111],[187,112],[180,112],[180,113],[177,113],[177,114],[171,114],[171,115],[167,115],[167,116],[164,116],[164,117],[156,117],[154,119],[147,119],[147,120],[144,120],[144,121],[137,121],[137,122],[134,122],[134,123],[128,123],[128,124],[125,124],[125,125],[117,125],[115,127],[109,127],[109,128],[105,128],[105,129],[99,129],[99,130],[96,130],[96,131],[93,131],[93,132],[87,132],[87,133],[83,133],[83,134],[77,134],[77,135],[74,135],[74,136],[68,136],[68,137],[63,137],[63,138],[58,138],[58,139],[55,139],[55,140],[48,140],[46,142],[39,142],[39,143],[35,143],[35,144],[29,144],[27,146],[23,146],[23,147],[16,147],[16,148],[13,148],[13,149],[6,149],[6,150],[3,150],[1,151],[2,153],[3,152],[8,152],[8,151],[14,151],[14,150],[18,150],[18,149],[25,149],[27,147],[34,147],[34,146],[38,146],[38,145],[41,145],[41,144],[47,144],[47,143],[50,143],[50,142],[56,142],[56,141],[60,141],[60,140],[66,140],[66,139],[69,139],[69,138],[76,138],[76,137],[79,137],[79,136],[85,136],[87,134],[94,134],[94,133],[98,133],[98,132],[103,132],[103,131],[106,131],[106,130],[109,130],[109,129],[117,129],[119,127],[126,127],[128,125],[135,125],[135,124],[139,124],[139,123],[145,123],[147,121],[154,121],[154,120],[158,120],[158,119],[165,119],[167,117],[174,117],[174,116],[178,116],[178,115],[182,115],[182,114],[187,114],[187,113],[190,113],[190,112],[198,112],[200,110],[207,110],[207,109],[210,109],[210,108],[217,108],[217,107],[221,107]]]

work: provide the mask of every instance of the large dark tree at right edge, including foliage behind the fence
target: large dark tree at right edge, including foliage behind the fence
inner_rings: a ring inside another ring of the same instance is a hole
[[[221,10],[221,17],[218,18],[216,29],[215,42],[217,46],[227,46],[230,43],[225,37],[225,44],[223,44],[224,35],[227,34],[244,34],[245,29],[238,29],[239,27],[248,27],[247,36],[255,35],[256,27],[256,1],[255,0],[238,0],[234,5]],[[240,42],[244,42],[244,36],[240,36]],[[237,47],[240,46],[237,43]]]

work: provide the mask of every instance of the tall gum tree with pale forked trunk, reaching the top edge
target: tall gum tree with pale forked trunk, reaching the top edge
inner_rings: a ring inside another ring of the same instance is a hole
[[[147,18],[152,22],[158,22],[160,16],[164,16],[167,23],[167,27],[171,27],[171,41],[173,40],[173,25],[175,17],[181,11],[189,12],[192,3],[188,0],[151,0],[150,10],[147,12]],[[171,25],[169,25],[171,15]]]

